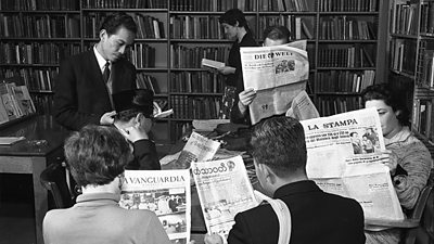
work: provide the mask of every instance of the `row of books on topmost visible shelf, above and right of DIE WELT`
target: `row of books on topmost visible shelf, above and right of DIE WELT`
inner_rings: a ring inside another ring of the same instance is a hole
[[[378,0],[319,0],[320,12],[373,12],[378,11]]]

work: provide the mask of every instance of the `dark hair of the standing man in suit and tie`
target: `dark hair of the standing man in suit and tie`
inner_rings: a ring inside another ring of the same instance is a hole
[[[106,16],[101,24],[100,31],[105,29],[110,36],[116,34],[120,27],[125,27],[129,31],[137,34],[137,24],[135,20],[123,12]]]

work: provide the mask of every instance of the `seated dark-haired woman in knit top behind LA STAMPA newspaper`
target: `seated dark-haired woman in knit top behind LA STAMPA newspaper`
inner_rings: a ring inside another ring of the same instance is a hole
[[[385,154],[392,180],[405,213],[412,210],[425,187],[432,158],[426,146],[410,131],[409,111],[400,92],[388,85],[370,86],[362,91],[366,107],[374,107],[381,121]],[[398,243],[399,229],[366,231],[366,243]]]

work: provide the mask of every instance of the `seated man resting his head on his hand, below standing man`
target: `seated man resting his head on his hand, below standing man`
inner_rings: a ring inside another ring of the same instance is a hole
[[[113,94],[114,125],[132,143],[135,158],[126,169],[161,169],[155,143],[150,138],[154,94],[148,89]]]

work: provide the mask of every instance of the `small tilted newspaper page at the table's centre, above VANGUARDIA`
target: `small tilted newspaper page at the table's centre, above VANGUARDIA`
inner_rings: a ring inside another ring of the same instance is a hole
[[[176,163],[177,168],[190,168],[192,162],[213,159],[220,144],[220,142],[205,138],[193,131],[178,157]]]

